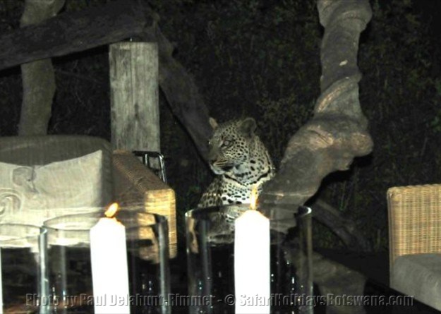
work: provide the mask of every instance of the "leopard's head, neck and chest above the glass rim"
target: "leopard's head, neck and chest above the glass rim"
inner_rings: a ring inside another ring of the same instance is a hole
[[[257,123],[251,117],[209,122],[213,133],[207,159],[216,177],[198,207],[249,204],[253,189],[259,194],[275,175],[270,154],[256,134]]]

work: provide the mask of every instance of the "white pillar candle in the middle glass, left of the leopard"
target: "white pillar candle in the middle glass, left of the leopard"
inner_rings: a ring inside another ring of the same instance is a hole
[[[95,314],[130,313],[126,228],[115,218],[90,229],[90,261]]]

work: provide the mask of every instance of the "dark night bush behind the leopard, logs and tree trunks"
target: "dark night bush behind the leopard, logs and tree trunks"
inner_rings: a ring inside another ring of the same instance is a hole
[[[146,0],[147,1],[147,0]],[[64,11],[105,0],[66,0]],[[151,0],[175,58],[195,78],[218,121],[253,116],[278,164],[287,140],[320,95],[322,28],[313,0]],[[0,0],[0,32],[19,27],[24,1]],[[350,171],[331,174],[318,196],[356,221],[373,251],[387,251],[386,191],[441,181],[441,1],[370,1],[361,34],[361,107],[375,148]],[[91,30],[92,31],[92,30]],[[53,59],[57,91],[51,134],[110,138],[107,47]],[[16,135],[20,68],[0,72],[0,135]],[[179,218],[212,179],[161,95],[162,152]],[[182,233],[183,224],[180,224]],[[316,248],[344,248],[315,223]],[[183,238],[181,234],[181,238]]]

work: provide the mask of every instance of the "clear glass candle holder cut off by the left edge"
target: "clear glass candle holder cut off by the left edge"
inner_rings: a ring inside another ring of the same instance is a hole
[[[44,313],[40,227],[0,224],[0,313]]]

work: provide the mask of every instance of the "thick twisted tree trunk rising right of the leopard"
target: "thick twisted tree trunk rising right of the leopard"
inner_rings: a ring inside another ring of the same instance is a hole
[[[358,100],[361,73],[358,38],[371,17],[367,0],[318,0],[322,40],[322,94],[313,119],[289,140],[277,175],[260,195],[263,203],[302,205],[322,179],[349,168],[354,157],[373,148],[368,121]]]

